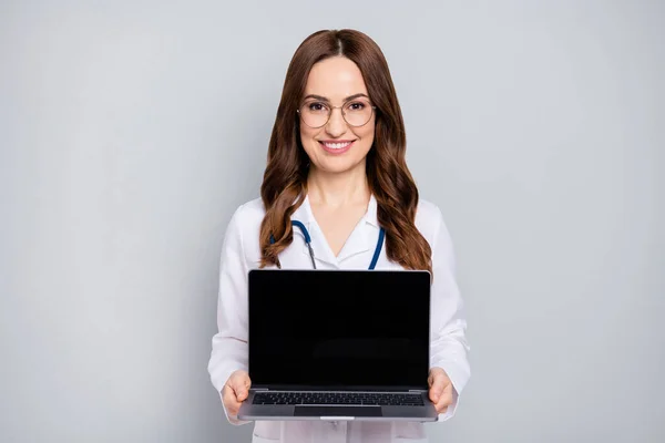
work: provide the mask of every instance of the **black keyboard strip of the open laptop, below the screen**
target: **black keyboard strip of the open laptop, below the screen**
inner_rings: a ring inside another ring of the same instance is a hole
[[[421,394],[375,392],[258,392],[253,404],[374,404],[381,406],[422,406]]]

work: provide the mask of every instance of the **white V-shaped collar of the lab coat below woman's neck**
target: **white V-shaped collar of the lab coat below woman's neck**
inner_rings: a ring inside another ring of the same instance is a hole
[[[378,235],[379,227],[377,220],[377,200],[372,194],[370,195],[365,216],[360,219],[358,226],[345,243],[339,255],[335,257],[332,249],[330,249],[326,237],[314,218],[314,213],[311,212],[311,206],[309,204],[309,196],[306,196],[303,204],[294,212],[291,220],[298,220],[307,227],[316,259],[335,267],[338,267],[340,261],[355,256],[356,254],[365,253],[369,250],[372,245],[376,245],[375,237]],[[377,229],[367,229],[365,225],[371,225]],[[305,244],[305,236],[297,227],[294,227],[294,238],[295,236],[298,236],[299,241],[301,241],[303,254],[309,257],[309,249]],[[369,264],[367,265],[369,266]]]

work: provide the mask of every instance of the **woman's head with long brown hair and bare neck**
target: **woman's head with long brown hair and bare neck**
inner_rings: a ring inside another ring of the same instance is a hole
[[[305,197],[337,255],[371,194],[388,257],[407,269],[431,271],[431,247],[413,223],[419,196],[406,144],[401,109],[377,43],[354,30],[309,35],[289,64],[270,137],[262,185],[262,265],[279,266],[278,256],[293,239],[289,217]],[[349,182],[359,184],[358,194],[340,215],[335,210],[340,202],[319,190]]]

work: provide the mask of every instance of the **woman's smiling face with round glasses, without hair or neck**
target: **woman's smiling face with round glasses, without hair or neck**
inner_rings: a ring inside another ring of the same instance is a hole
[[[311,166],[327,173],[365,168],[374,143],[376,113],[356,63],[345,56],[316,63],[299,105],[300,141]],[[330,110],[330,119],[325,123]],[[345,121],[342,111],[352,125]],[[362,125],[355,126],[358,124]]]

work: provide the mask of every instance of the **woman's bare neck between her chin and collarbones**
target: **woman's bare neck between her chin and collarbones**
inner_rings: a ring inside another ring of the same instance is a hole
[[[369,200],[370,192],[365,165],[344,174],[326,173],[313,167],[307,177],[307,193],[309,202],[315,205],[366,204]]]

